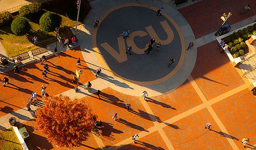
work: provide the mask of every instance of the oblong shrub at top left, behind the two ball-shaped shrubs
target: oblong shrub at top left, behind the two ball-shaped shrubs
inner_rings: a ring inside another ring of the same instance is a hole
[[[39,2],[33,2],[28,5],[22,6],[19,9],[20,16],[27,17],[31,14],[34,14],[36,12],[39,12],[41,10],[41,3]]]

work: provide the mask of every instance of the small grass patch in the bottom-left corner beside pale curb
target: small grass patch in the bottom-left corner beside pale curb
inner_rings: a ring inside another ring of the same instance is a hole
[[[23,150],[13,128],[0,131],[0,150]]]

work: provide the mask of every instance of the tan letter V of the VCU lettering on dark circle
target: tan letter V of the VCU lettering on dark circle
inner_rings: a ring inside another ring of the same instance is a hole
[[[113,56],[119,63],[127,60],[127,54],[125,53],[125,40],[122,37],[117,38],[119,53],[113,49],[107,42],[100,44],[111,56]]]

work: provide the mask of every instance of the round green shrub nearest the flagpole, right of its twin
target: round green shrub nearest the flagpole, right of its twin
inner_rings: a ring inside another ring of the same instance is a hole
[[[39,20],[40,27],[46,31],[54,31],[61,24],[61,17],[54,12],[44,13]]]

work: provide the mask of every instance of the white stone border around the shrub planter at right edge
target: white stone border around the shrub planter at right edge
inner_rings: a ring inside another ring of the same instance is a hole
[[[245,26],[243,26],[243,27],[241,27],[241,28],[238,28],[238,29],[236,29],[236,30],[234,30],[234,31],[232,31],[232,32],[229,32],[229,33],[227,33],[227,34],[221,35],[221,36],[217,37],[216,40],[220,43],[222,38],[225,38],[225,37],[227,37],[227,36],[233,34],[234,32],[237,32],[238,30],[243,30],[243,28],[247,28],[248,26],[254,25],[254,24],[256,24],[256,22],[253,22],[253,23],[251,23],[251,24],[249,24],[249,25],[245,25]],[[223,49],[223,47],[221,47],[221,48]],[[231,47],[230,47],[230,48],[231,48]],[[236,64],[237,64],[237,63],[240,63],[240,62],[242,61],[242,59],[243,59],[245,56],[248,55],[248,53],[246,53],[246,54],[243,55],[243,56],[234,58],[234,57],[231,55],[231,53],[230,53],[230,51],[229,51],[228,49],[226,49],[226,50],[224,50],[224,51],[225,51],[226,55],[229,57],[230,61],[231,61],[232,63],[235,62]]]

